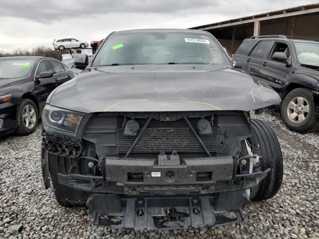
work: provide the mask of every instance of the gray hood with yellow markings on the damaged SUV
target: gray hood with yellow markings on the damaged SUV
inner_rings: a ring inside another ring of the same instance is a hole
[[[233,67],[139,65],[88,68],[49,96],[83,112],[251,111],[281,102],[262,82]]]

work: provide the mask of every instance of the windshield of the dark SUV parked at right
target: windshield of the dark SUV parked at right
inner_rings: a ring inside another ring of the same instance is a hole
[[[319,67],[319,43],[294,42],[300,64]]]

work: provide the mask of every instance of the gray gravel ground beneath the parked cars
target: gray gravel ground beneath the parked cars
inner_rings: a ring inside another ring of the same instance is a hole
[[[28,136],[1,138],[0,238],[319,238],[319,134],[292,132],[278,112],[267,113],[255,118],[270,123],[279,137],[282,188],[271,200],[250,203],[244,222],[220,228],[126,232],[93,227],[86,208],[63,208],[52,189],[44,190],[40,126]]]

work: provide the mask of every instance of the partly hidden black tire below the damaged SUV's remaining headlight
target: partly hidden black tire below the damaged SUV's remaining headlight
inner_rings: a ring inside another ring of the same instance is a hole
[[[49,172],[56,201],[63,207],[84,206],[90,193],[59,184],[57,179],[58,173],[69,174],[69,169],[73,164],[76,165],[75,173],[84,174],[83,165],[73,158],[57,156],[46,151],[45,153],[48,154]]]

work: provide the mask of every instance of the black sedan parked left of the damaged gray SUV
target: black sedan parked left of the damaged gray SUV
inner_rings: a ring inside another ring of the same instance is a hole
[[[49,94],[75,76],[53,58],[0,58],[0,135],[32,133]]]

